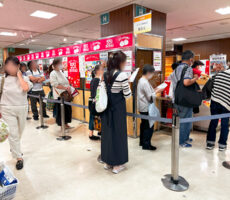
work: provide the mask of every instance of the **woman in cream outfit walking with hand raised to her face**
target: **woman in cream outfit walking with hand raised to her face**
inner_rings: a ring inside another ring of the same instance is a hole
[[[21,136],[25,127],[28,102],[27,92],[32,88],[29,78],[22,76],[17,57],[8,57],[5,61],[5,77],[1,77],[1,115],[9,125],[9,143],[13,157],[17,160],[16,169],[23,168]]]

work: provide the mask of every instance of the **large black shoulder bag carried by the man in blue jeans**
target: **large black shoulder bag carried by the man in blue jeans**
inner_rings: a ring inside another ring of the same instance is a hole
[[[189,108],[199,107],[202,103],[202,93],[198,92],[200,86],[194,83],[190,86],[184,85],[184,75],[188,67],[185,67],[181,73],[181,79],[178,81],[175,90],[175,103]]]

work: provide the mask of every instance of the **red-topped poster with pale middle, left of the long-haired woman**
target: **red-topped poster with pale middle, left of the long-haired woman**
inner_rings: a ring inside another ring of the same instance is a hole
[[[85,87],[90,89],[92,71],[96,65],[101,64],[100,54],[85,55]]]

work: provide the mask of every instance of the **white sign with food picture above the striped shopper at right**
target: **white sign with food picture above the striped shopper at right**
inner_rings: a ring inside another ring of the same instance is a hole
[[[225,69],[227,66],[226,54],[213,54],[210,56],[210,73],[211,76],[216,74],[217,71]]]

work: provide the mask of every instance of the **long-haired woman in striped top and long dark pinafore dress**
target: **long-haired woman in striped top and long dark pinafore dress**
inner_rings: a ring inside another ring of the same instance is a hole
[[[119,173],[128,162],[127,122],[125,98],[131,96],[128,77],[122,72],[126,55],[119,51],[108,60],[104,83],[108,94],[108,107],[102,114],[101,159],[105,169]]]

